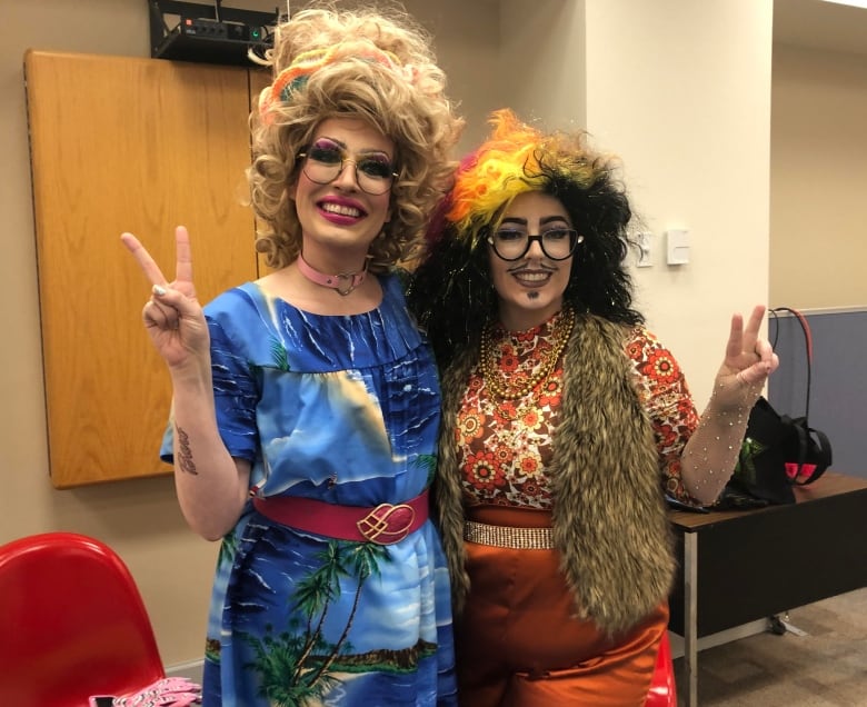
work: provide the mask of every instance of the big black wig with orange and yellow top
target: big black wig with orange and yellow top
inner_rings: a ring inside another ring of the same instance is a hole
[[[509,110],[495,112],[491,123],[490,139],[464,160],[435,215],[427,252],[407,291],[438,364],[448,366],[467,347],[477,347],[481,329],[496,318],[486,237],[511,200],[527,191],[557,198],[584,236],[564,300],[578,312],[642,322],[625,266],[632,212],[615,178],[615,161],[592,152],[584,132],[544,135]]]

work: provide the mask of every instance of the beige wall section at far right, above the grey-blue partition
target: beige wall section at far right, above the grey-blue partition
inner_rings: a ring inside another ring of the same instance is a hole
[[[865,308],[867,54],[778,44],[773,99],[771,301]]]

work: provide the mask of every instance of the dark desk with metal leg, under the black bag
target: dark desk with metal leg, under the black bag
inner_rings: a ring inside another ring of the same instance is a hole
[[[797,502],[670,514],[680,567],[669,628],[684,637],[686,705],[698,639],[867,586],[867,479],[826,471]]]

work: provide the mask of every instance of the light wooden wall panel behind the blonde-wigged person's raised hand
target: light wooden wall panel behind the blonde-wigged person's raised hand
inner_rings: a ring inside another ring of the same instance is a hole
[[[141,322],[136,233],[170,281],[189,228],[202,302],[255,279],[242,206],[251,72],[29,51],[24,61],[52,484],[166,474],[170,384]]]

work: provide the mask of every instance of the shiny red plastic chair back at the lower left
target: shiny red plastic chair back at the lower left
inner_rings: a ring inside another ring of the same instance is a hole
[[[0,546],[0,705],[82,707],[163,677],[141,595],[111,548],[71,532]]]

